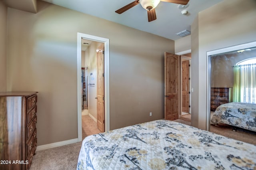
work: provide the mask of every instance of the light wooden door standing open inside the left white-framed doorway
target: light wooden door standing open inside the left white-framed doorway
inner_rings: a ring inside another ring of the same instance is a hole
[[[104,114],[104,43],[97,50],[97,127],[105,131]]]

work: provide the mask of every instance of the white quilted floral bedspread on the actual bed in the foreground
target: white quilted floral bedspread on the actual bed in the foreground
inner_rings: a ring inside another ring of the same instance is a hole
[[[77,169],[256,169],[256,146],[174,121],[152,121],[94,134]]]

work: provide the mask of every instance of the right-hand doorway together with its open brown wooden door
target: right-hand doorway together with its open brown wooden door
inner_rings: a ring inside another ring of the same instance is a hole
[[[191,51],[182,54],[165,52],[164,119],[191,125]]]

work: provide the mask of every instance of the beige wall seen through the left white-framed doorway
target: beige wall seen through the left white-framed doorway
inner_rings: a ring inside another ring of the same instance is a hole
[[[97,119],[97,54],[96,50],[103,44],[101,42],[92,42],[85,51],[85,65],[88,66],[88,113]],[[92,73],[92,76],[90,75]],[[93,79],[92,79],[93,78]]]

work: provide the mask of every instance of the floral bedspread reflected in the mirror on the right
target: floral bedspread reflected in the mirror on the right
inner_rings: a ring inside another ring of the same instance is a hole
[[[219,123],[256,132],[256,104],[232,102],[220,105],[211,119],[212,125]]]

